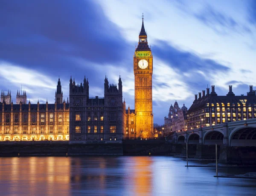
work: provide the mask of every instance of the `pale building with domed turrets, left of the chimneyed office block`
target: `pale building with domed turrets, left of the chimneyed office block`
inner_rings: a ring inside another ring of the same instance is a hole
[[[172,131],[186,131],[187,129],[187,108],[185,104],[181,108],[177,101],[170,106],[168,117],[164,117],[164,132],[170,134]]]

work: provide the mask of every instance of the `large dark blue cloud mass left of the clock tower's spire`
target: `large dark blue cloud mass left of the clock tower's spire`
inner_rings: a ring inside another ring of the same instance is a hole
[[[4,0],[0,26],[0,59],[52,75],[84,70],[76,58],[118,64],[129,48],[119,28],[89,0]]]

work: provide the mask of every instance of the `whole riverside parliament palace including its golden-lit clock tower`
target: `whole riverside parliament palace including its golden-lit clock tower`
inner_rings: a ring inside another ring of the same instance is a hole
[[[142,19],[144,20],[144,18]],[[153,134],[152,111],[153,56],[148,46],[144,21],[134,52],[135,108],[126,110],[122,80],[111,85],[104,81],[104,97],[89,97],[88,78],[76,84],[70,77],[69,99],[63,99],[58,79],[55,103],[27,103],[26,91],[1,93],[0,141],[121,141],[150,138]]]

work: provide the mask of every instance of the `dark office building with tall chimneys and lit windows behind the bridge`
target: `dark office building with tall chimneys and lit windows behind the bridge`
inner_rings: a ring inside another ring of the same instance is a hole
[[[235,95],[232,85],[229,86],[226,96],[218,96],[214,85],[212,85],[211,93],[209,93],[209,88],[207,88],[207,94],[205,91],[202,93],[199,92],[198,97],[195,94],[195,100],[188,110],[188,129],[256,118],[256,91],[253,90],[252,85],[250,85],[247,96]]]

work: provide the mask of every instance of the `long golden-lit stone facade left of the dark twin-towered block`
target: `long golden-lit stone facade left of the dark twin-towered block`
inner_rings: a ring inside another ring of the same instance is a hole
[[[16,102],[0,103],[0,141],[69,140],[69,104],[65,101],[26,104],[24,91],[23,95],[17,92]]]

